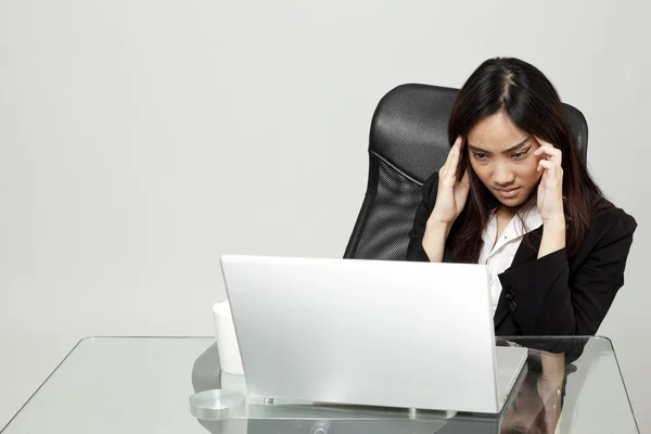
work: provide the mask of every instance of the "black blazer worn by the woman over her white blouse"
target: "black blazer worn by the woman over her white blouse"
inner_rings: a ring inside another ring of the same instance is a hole
[[[438,174],[434,174],[423,186],[423,200],[409,233],[409,260],[430,260],[422,240],[437,191]],[[520,243],[511,267],[498,276],[502,291],[494,317],[496,335],[597,333],[624,285],[626,258],[636,228],[631,216],[607,202],[603,210],[592,216],[587,237],[574,255],[562,248],[537,259],[542,227],[527,233],[527,242]],[[446,243],[444,263],[454,261],[449,252]]]

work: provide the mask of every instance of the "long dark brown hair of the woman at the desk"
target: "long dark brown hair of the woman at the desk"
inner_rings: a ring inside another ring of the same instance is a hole
[[[472,73],[457,97],[448,124],[450,146],[457,137],[465,140],[480,120],[497,113],[505,113],[521,130],[553,143],[563,153],[566,248],[570,253],[576,252],[603,196],[579,156],[576,137],[557,90],[538,68],[519,59],[485,61]],[[465,169],[470,178],[470,193],[463,215],[457,219],[457,228],[450,233],[450,248],[456,260],[476,263],[482,250],[483,230],[499,202],[472,170],[468,146],[464,145],[458,179]],[[534,197],[535,193],[525,204],[531,204]]]

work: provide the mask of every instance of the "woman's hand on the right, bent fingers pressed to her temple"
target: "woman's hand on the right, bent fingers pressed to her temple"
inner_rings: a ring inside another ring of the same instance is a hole
[[[542,217],[544,225],[565,226],[565,212],[563,209],[563,168],[561,161],[563,154],[551,143],[536,137],[540,148],[534,155],[542,155],[538,162],[538,171],[542,170],[542,177],[538,184],[538,210]]]

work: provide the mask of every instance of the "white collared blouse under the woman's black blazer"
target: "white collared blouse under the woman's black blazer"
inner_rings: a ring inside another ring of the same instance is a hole
[[[524,226],[523,226],[524,222]],[[528,212],[514,216],[499,240],[497,238],[497,216],[495,212],[490,215],[488,225],[484,230],[482,239],[484,246],[480,254],[478,264],[487,265],[490,271],[490,307],[493,315],[497,308],[499,294],[501,293],[501,282],[497,275],[503,272],[513,263],[515,252],[520,247],[522,238],[542,226],[542,217],[538,207],[534,205]]]

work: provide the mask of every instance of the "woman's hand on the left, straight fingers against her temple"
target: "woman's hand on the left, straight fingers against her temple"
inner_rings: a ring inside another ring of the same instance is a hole
[[[438,171],[438,193],[436,204],[430,215],[427,225],[444,226],[449,229],[465,206],[470,182],[468,170],[461,180],[457,180],[457,167],[461,159],[461,144],[463,139],[458,137],[448,153],[448,157]]]

